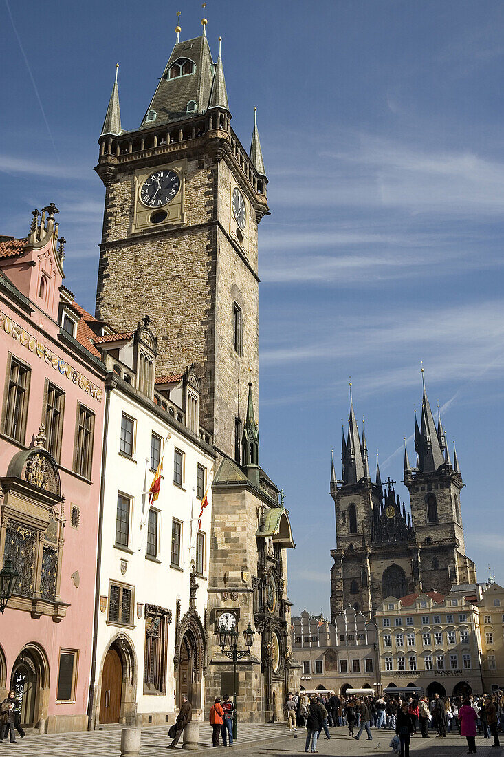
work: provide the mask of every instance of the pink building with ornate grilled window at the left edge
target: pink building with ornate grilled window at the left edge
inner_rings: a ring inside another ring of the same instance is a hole
[[[0,237],[0,565],[20,577],[0,615],[0,696],[21,723],[87,727],[108,330],[62,285],[51,204]]]

